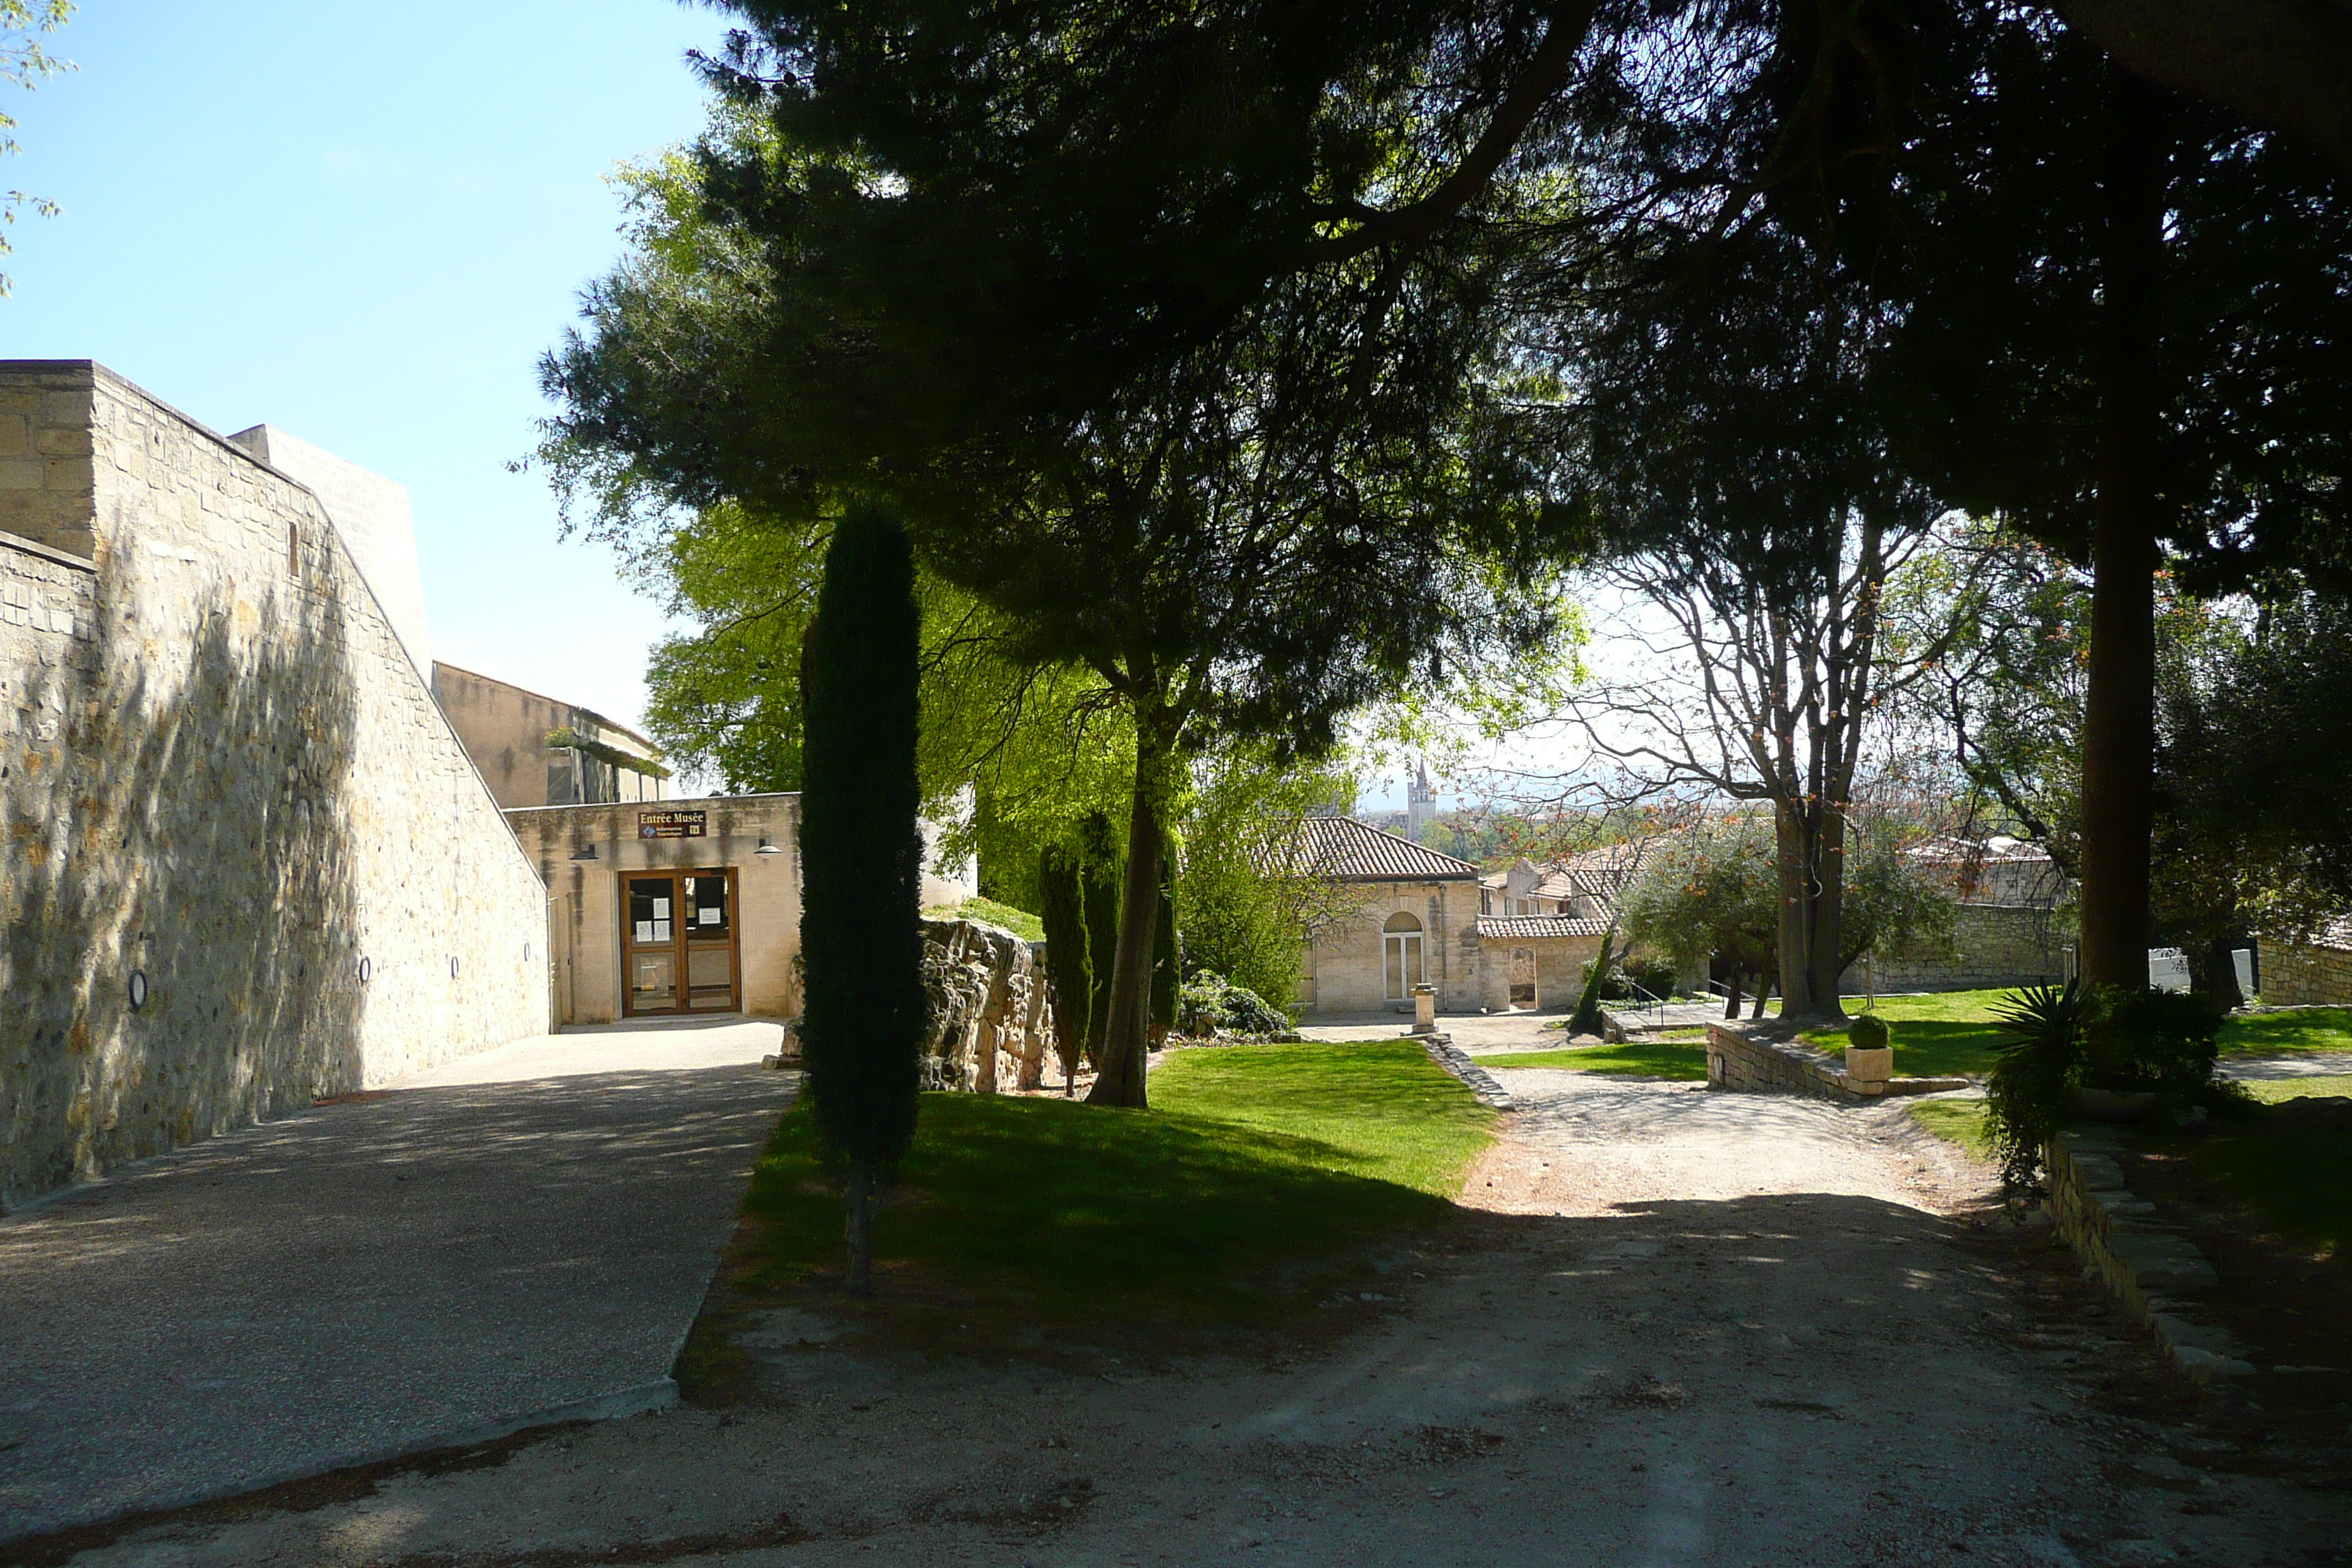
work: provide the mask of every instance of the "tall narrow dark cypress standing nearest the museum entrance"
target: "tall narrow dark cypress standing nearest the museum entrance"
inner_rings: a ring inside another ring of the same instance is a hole
[[[920,625],[896,515],[856,508],[833,531],[802,656],[800,1018],[823,1150],[849,1164],[849,1288],[873,1293],[873,1187],[915,1138],[929,1013],[922,987],[922,830],[915,818]]]

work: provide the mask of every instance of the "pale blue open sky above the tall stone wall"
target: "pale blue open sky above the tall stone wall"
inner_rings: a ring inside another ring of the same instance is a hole
[[[433,651],[633,722],[659,607],[506,463],[536,357],[621,252],[616,160],[691,136],[675,0],[82,0],[5,89],[24,216],[0,357],[99,360],[216,430],[409,487]]]

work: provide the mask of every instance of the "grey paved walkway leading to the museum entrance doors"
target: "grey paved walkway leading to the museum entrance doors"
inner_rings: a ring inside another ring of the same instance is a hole
[[[776,1039],[517,1041],[0,1220],[0,1542],[675,1399]]]

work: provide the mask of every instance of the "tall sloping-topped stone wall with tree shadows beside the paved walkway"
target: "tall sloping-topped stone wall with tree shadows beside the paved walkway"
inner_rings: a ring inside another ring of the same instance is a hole
[[[546,1030],[546,891],[310,491],[0,362],[0,1204]]]

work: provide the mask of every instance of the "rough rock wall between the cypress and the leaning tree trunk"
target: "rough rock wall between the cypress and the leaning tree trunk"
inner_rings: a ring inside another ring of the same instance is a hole
[[[1054,1009],[1040,947],[976,919],[922,922],[922,983],[931,992],[924,1088],[990,1095],[1044,1081]]]

